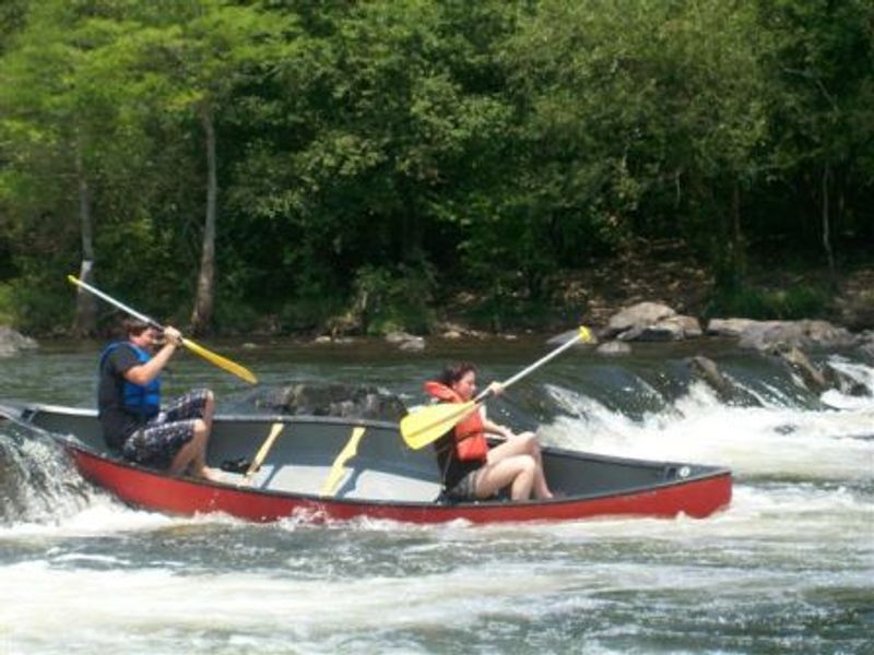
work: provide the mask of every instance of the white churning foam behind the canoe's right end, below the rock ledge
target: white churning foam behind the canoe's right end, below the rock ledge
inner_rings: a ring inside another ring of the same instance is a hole
[[[554,394],[571,416],[540,434],[563,448],[722,464],[739,475],[870,479],[874,472],[874,409],[729,406],[696,383],[673,406],[634,420],[567,390]]]

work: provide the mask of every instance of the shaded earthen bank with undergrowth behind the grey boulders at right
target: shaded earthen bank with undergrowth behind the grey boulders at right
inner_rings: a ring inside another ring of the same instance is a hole
[[[819,319],[852,332],[874,329],[874,259],[855,257],[831,277],[822,265],[758,258],[748,263],[736,291],[720,296],[712,274],[681,242],[639,241],[613,259],[562,272],[540,303],[510,298],[499,315],[489,315],[481,296],[460,290],[446,299],[440,317],[450,330],[554,332],[578,322],[600,330],[623,309],[657,302],[704,323],[711,318]]]

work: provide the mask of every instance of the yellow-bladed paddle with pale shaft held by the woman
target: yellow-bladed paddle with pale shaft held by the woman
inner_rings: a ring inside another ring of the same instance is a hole
[[[589,329],[584,325],[580,325],[577,334],[572,338],[568,340],[541,359],[538,359],[524,370],[519,371],[501,385],[507,388],[510,384],[518,382],[534,369],[538,369],[550,361],[553,357],[557,357],[567,350],[578,341],[582,341],[584,343],[590,343],[592,341],[592,333],[589,332]],[[462,420],[471,412],[477,409],[491,394],[492,392],[486,389],[483,393],[477,395],[472,401],[468,401],[466,403],[442,403],[439,405],[424,407],[418,412],[408,414],[401,419],[401,436],[406,442],[406,445],[410,448],[423,448],[446,434],[457,422]]]

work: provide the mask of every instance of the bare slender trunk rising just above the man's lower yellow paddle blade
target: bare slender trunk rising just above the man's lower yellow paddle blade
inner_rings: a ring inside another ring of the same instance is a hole
[[[212,320],[215,294],[215,214],[218,196],[215,124],[213,123],[212,107],[209,104],[201,107],[200,119],[206,145],[206,221],[203,226],[203,249],[200,257],[194,311],[191,314],[191,331],[194,334],[206,332]]]

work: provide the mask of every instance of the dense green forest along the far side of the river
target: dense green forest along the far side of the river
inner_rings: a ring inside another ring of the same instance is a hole
[[[3,0],[0,322],[871,326],[873,144],[870,0]]]

